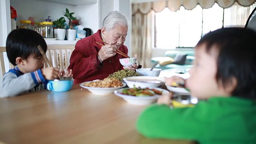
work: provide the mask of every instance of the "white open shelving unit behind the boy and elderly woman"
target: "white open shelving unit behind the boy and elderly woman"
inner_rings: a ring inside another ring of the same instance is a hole
[[[75,12],[74,16],[80,17],[82,25],[91,28],[96,32],[99,28],[99,0],[0,0],[0,46],[5,46],[7,35],[11,31],[10,6],[17,11],[17,26],[20,20],[27,20],[28,17],[36,17],[38,22],[43,22],[48,16],[52,21],[63,16],[62,11],[66,8]],[[68,4],[72,2],[72,4]],[[63,16],[64,17],[64,16]],[[68,19],[66,18],[66,23]],[[76,41],[57,41],[47,44],[76,44]]]

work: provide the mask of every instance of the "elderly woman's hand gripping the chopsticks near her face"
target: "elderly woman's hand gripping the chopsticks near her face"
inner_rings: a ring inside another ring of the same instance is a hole
[[[109,44],[103,45],[98,52],[98,56],[101,61],[106,60],[114,55],[116,55],[116,46],[113,45],[111,42]]]

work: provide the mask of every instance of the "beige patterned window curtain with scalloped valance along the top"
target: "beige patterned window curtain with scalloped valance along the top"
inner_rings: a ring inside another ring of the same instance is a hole
[[[256,0],[160,0],[132,4],[132,55],[138,54],[137,62],[143,68],[150,68],[152,57],[152,20],[155,12],[161,12],[168,7],[171,11],[177,11],[180,6],[192,10],[198,4],[202,8],[211,8],[216,2],[222,8],[228,8],[238,2],[242,6],[250,6]]]

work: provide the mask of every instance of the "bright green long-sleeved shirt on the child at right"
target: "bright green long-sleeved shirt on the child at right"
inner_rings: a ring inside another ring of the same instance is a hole
[[[256,144],[256,101],[212,97],[194,107],[153,104],[136,128],[148,138],[195,140],[200,144]]]

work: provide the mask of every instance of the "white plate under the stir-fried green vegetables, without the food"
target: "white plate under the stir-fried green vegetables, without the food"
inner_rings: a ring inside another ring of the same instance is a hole
[[[123,98],[126,102],[130,104],[148,105],[148,104],[152,104],[157,100],[158,97],[160,97],[160,95],[157,95],[157,94],[154,96],[128,96],[128,95],[122,94],[124,89],[129,89],[129,88],[121,88],[119,90],[115,90],[114,94],[116,96]],[[150,88],[150,89],[153,89],[153,88]],[[169,94],[168,90],[164,90],[162,88],[154,88],[154,89],[160,90],[162,92],[162,95]]]

